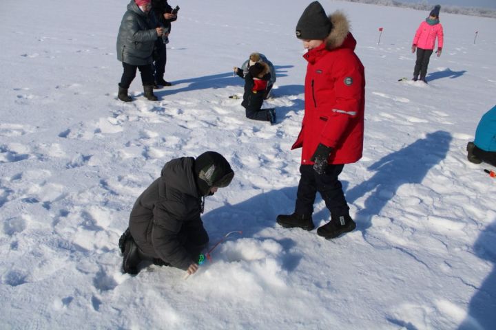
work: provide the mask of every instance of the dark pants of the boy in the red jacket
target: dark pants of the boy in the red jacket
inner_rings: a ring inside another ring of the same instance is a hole
[[[302,215],[313,213],[313,203],[317,192],[331,211],[332,217],[349,215],[349,206],[344,198],[341,182],[338,180],[344,165],[328,165],[325,173],[320,175],[313,165],[300,166],[300,184],[296,195],[295,212]]]

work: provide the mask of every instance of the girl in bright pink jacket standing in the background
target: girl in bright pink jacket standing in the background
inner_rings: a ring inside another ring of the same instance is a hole
[[[413,70],[413,80],[417,81],[420,74],[420,80],[424,83],[426,81],[427,65],[429,58],[434,51],[435,39],[437,37],[437,57],[441,56],[443,45],[443,30],[439,21],[439,12],[441,6],[435,5],[431,10],[431,14],[426,20],[420,23],[415,36],[413,37],[412,53],[417,50],[417,61],[415,62],[415,69]]]

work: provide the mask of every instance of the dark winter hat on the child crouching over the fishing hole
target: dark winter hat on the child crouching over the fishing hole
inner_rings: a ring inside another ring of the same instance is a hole
[[[215,151],[202,153],[195,159],[194,172],[200,195],[210,195],[210,188],[229,186],[234,177],[234,171],[229,162]]]

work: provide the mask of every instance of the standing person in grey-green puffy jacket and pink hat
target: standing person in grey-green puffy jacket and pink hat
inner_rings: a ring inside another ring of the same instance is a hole
[[[123,63],[124,72],[118,84],[117,98],[124,102],[132,101],[127,89],[140,70],[145,98],[156,101],[153,94],[154,72],[152,53],[155,41],[163,34],[154,17],[150,14],[151,0],[131,0],[127,5],[117,35],[117,59]]]

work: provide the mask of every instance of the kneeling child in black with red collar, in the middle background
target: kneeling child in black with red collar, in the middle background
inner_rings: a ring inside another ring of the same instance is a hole
[[[264,101],[264,91],[271,77],[270,68],[267,63],[255,63],[248,69],[246,75],[242,69],[234,67],[234,72],[241,78],[245,78],[245,94],[241,105],[246,109],[246,116],[249,119],[276,122],[276,109],[261,109]]]

